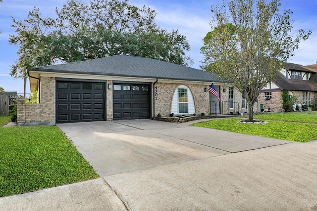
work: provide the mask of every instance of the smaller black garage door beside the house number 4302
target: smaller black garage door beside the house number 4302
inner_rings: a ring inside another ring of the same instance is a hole
[[[150,118],[150,84],[113,83],[113,120]]]

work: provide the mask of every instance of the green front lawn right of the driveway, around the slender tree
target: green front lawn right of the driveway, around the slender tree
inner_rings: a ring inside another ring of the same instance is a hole
[[[283,116],[284,115],[284,116]],[[301,118],[301,117],[304,117]],[[198,127],[208,127],[244,134],[258,135],[289,141],[307,142],[317,139],[317,121],[315,116],[303,114],[269,114],[258,115],[256,119],[268,120],[268,124],[237,124],[241,119],[216,119],[193,124]],[[305,119],[307,119],[305,121]],[[276,121],[272,121],[276,120]],[[310,123],[310,124],[307,124]]]

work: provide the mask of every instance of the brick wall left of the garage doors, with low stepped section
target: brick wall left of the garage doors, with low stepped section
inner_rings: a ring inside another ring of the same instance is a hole
[[[55,124],[55,78],[41,77],[41,102],[25,104],[25,99],[17,99],[18,125]]]

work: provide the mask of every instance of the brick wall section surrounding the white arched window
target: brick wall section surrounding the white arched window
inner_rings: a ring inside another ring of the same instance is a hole
[[[154,89],[155,115],[169,116],[173,94],[179,85],[186,85],[193,94],[196,114],[209,114],[209,92],[205,92],[206,85],[157,83]]]

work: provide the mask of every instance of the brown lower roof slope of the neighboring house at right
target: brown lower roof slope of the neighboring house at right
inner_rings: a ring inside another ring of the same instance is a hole
[[[290,80],[286,79],[281,73],[278,73],[276,79],[273,80],[274,84],[276,84],[281,90],[293,91],[317,91],[317,86],[315,85],[314,81],[315,80]]]

